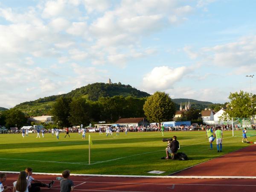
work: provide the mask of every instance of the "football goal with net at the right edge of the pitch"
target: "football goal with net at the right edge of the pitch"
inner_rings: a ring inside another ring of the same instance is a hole
[[[253,129],[250,118],[232,117],[232,134],[233,137],[242,137],[242,130],[246,128],[247,137],[256,136],[256,130]]]

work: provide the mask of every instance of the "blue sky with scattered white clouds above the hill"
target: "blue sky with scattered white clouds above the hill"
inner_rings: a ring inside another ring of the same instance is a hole
[[[256,1],[0,0],[0,107],[95,82],[228,102],[256,93]],[[251,81],[251,83],[250,83]]]

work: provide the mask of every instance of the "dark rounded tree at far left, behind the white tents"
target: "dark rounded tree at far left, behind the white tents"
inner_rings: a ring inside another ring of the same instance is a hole
[[[22,127],[27,122],[27,118],[24,113],[17,109],[10,109],[6,111],[6,127]]]

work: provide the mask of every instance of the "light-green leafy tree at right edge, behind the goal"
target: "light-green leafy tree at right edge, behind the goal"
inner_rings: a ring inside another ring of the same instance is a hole
[[[227,104],[229,117],[250,118],[256,114],[255,97],[249,93],[240,90],[240,93],[230,93],[228,97],[230,103]]]

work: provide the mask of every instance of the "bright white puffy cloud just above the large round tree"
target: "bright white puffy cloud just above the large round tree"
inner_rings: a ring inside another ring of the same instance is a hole
[[[170,89],[176,82],[181,81],[189,71],[191,69],[188,67],[154,67],[150,73],[143,77],[143,87],[149,93]]]

